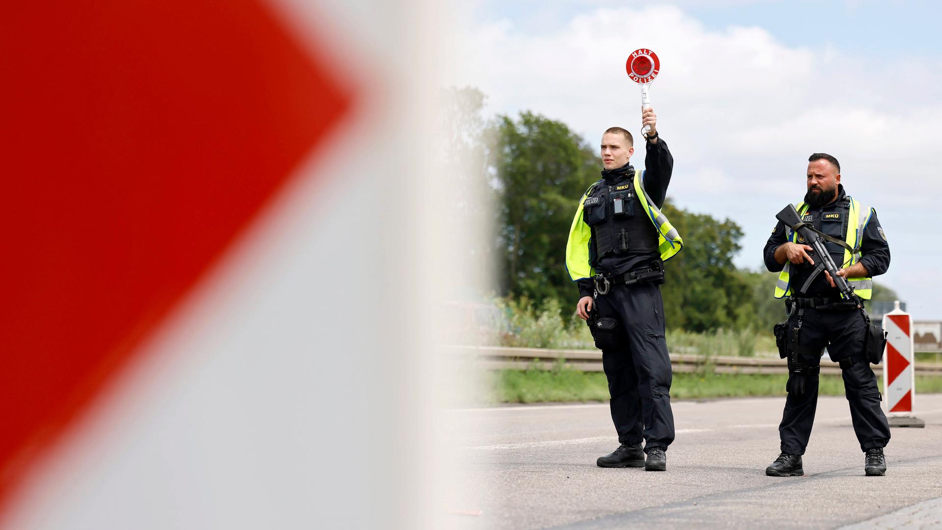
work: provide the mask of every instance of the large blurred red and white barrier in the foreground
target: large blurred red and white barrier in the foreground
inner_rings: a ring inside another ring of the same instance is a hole
[[[434,20],[381,4],[4,8],[0,526],[428,522]]]

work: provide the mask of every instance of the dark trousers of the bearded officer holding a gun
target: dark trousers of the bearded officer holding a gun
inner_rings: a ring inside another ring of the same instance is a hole
[[[798,322],[798,312],[788,319],[788,329]],[[853,365],[841,371],[844,393],[851,406],[853,432],[860,442],[860,449],[885,447],[889,441],[889,425],[880,407],[880,389],[877,377],[864,358],[864,340],[867,325],[856,309],[827,311],[804,309],[798,343],[811,348],[827,347],[835,361],[851,357]],[[820,366],[820,356],[800,356],[809,366]],[[804,448],[811,437],[811,424],[815,420],[818,406],[818,375],[805,376],[804,394],[789,391],[785,401],[785,412],[778,427],[782,439],[782,452],[804,455]],[[790,385],[789,385],[790,388]]]

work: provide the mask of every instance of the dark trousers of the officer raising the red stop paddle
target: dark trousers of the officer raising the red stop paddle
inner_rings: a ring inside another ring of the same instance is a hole
[[[611,420],[621,443],[646,441],[644,451],[674,441],[671,358],[664,340],[664,304],[651,284],[611,286],[595,297],[600,317],[615,318],[615,348],[602,350],[609,379]]]

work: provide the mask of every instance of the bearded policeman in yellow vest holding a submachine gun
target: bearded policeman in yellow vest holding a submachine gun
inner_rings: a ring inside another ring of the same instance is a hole
[[[803,223],[831,237],[825,247],[840,269],[837,273],[858,297],[869,300],[871,277],[889,267],[889,245],[876,211],[848,195],[840,184],[835,157],[815,153],[808,158],[807,193],[795,209]],[[765,246],[766,266],[771,272],[781,272],[775,297],[787,297],[789,315],[776,333],[783,355],[788,356],[789,373],[788,397],[778,428],[782,453],[766,474],[804,474],[802,455],[818,403],[820,356],[827,347],[831,358],[840,363],[853,432],[866,453],[864,470],[868,475],[883,475],[889,426],[865,354],[868,322],[855,303],[841,297],[830,274],[812,275],[820,257],[806,242],[810,241],[780,221]],[[810,283],[808,278],[813,278]]]

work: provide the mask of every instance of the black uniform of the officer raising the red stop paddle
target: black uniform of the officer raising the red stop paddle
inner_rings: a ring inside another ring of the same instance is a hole
[[[644,190],[661,207],[671,182],[674,157],[667,144],[645,141]],[[602,180],[593,185],[587,204],[597,197],[600,207],[584,211],[583,219],[593,227],[590,242],[590,263],[596,273],[620,275],[650,272],[663,267],[658,253],[658,233],[645,215],[640,199],[634,193],[635,169],[630,164],[602,172]],[[624,200],[615,216],[612,194]],[[593,215],[599,216],[592,219]],[[595,226],[617,220],[616,230],[600,231]],[[606,233],[618,236],[606,241]],[[609,379],[611,420],[618,440],[639,444],[646,440],[644,452],[667,446],[674,441],[674,415],[671,411],[671,358],[664,340],[664,306],[660,297],[661,282],[639,282],[633,285],[614,284],[607,294],[595,297],[600,318],[618,321],[615,347],[602,348],[602,364]],[[583,278],[577,282],[579,296],[593,296],[594,282]]]

